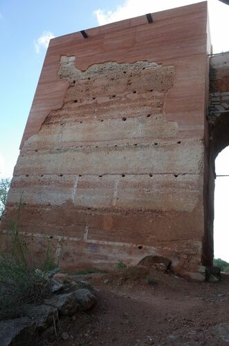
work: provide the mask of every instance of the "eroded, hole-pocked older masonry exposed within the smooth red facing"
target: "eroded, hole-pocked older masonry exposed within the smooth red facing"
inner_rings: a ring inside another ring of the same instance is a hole
[[[108,62],[81,71],[75,57],[62,56],[58,75],[70,82],[63,107],[51,111],[39,134],[24,143],[15,168],[8,208],[24,191],[31,219],[21,218],[23,229],[41,233],[44,224],[47,234],[92,242],[94,248],[134,246],[137,260],[145,253],[171,258],[174,242],[181,253],[191,243],[193,248],[203,144],[177,140],[177,123],[165,120],[174,66]],[[47,209],[44,220],[40,212]],[[51,211],[61,212],[57,225]],[[192,222],[190,239],[183,239],[177,217]],[[198,252],[201,244],[194,246]],[[114,257],[133,261],[129,253]]]

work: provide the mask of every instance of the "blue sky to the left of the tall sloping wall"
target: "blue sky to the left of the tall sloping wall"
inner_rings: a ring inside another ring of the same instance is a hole
[[[122,1],[0,0],[0,176],[11,176],[46,48],[35,42],[47,31],[55,37],[98,26],[98,8]]]

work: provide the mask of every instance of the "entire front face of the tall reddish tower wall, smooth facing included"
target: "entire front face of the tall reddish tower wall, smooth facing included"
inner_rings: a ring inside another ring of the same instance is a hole
[[[203,255],[206,3],[51,40],[1,228],[66,268]],[[58,245],[59,244],[59,245]],[[191,274],[192,275],[192,274]]]

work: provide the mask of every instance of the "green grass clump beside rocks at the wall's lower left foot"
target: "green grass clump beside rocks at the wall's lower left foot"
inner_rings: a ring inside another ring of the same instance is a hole
[[[19,233],[18,219],[19,214],[11,225],[7,251],[0,253],[0,320],[22,316],[23,304],[41,303],[51,295],[47,273],[55,264],[50,244],[44,259],[36,260],[26,244],[26,237]]]

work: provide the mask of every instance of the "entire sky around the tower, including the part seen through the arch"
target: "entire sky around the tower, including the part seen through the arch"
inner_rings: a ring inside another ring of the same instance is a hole
[[[0,178],[12,176],[49,39],[197,2],[200,1],[0,0]],[[219,0],[209,0],[208,6],[213,51],[229,51],[229,6]],[[229,174],[228,158],[229,150],[225,149],[217,158],[217,174]],[[223,244],[229,243],[229,213],[221,208],[226,196],[229,177],[217,178],[214,234],[223,235],[214,241],[214,251],[215,257],[229,262],[229,251],[223,250]],[[228,201],[225,199],[223,204],[226,206]]]

